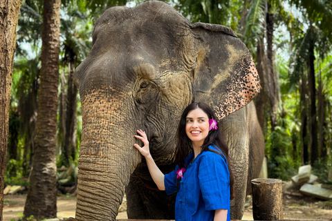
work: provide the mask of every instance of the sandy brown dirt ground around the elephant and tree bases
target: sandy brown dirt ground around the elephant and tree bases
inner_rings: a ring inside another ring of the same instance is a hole
[[[19,220],[24,211],[26,195],[5,195],[3,221]],[[62,220],[75,216],[75,197],[62,195],[57,198],[57,218]],[[124,198],[119,209],[118,219],[127,219],[126,200]],[[331,220],[332,202],[318,200],[301,195],[300,193],[284,193],[283,195],[284,220]],[[245,213],[242,220],[253,220],[252,199],[246,199]]]

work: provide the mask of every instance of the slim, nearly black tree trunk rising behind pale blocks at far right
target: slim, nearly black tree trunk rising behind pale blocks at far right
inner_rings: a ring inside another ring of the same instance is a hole
[[[311,28],[311,36],[313,36],[313,28]],[[311,37],[311,45],[308,48],[308,90],[310,95],[310,115],[309,128],[311,134],[311,164],[318,160],[318,137],[317,137],[317,113],[316,113],[316,84],[315,84],[315,54],[314,41]]]

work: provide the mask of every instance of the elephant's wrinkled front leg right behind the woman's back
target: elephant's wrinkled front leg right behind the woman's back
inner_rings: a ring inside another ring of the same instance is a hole
[[[244,109],[232,113],[221,122],[223,137],[229,148],[231,169],[234,173],[235,198],[230,202],[231,220],[241,220],[246,200],[249,146]]]

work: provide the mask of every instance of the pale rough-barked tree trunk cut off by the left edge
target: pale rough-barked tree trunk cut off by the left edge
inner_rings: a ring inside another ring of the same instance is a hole
[[[0,3],[0,221],[3,220],[3,187],[8,142],[8,121],[12,68],[16,47],[16,29],[21,0]]]

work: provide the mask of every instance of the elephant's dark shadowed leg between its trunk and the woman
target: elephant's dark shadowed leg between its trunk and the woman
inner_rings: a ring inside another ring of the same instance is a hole
[[[174,220],[176,195],[168,196],[165,191],[159,191],[152,180],[133,173],[126,194],[129,219]]]

